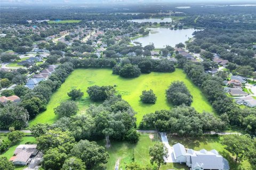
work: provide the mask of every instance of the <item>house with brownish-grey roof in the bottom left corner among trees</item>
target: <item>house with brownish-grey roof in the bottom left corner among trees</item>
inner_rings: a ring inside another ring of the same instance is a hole
[[[14,156],[12,156],[9,161],[14,165],[27,165],[30,162],[30,158],[36,156],[38,150],[37,145],[19,145],[15,151]]]

